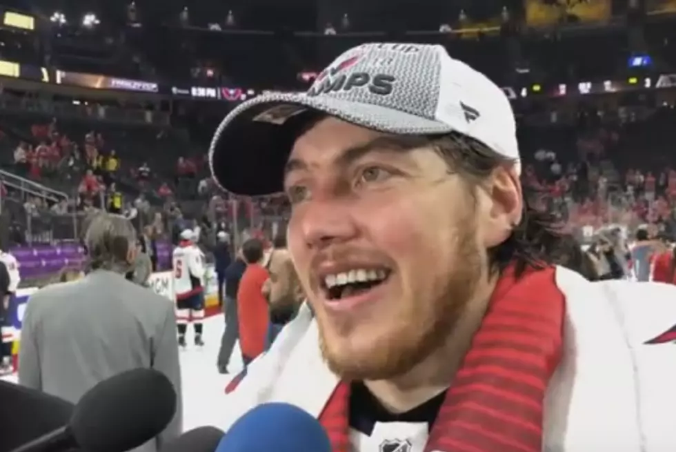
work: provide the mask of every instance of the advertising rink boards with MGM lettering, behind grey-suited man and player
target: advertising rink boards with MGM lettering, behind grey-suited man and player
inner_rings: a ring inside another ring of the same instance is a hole
[[[163,297],[167,297],[170,302],[175,302],[173,278],[170,271],[163,271],[153,273],[150,275],[150,288],[152,291]],[[218,284],[216,273],[213,266],[207,266],[206,269],[206,283],[205,283],[205,310],[207,313],[212,313],[218,306]],[[26,302],[28,297],[38,290],[37,287],[26,287],[17,290],[17,294],[10,300],[10,307],[8,310],[8,318],[10,326],[3,326],[2,335],[3,340],[14,341],[12,353],[16,354],[19,351],[19,340],[21,339],[21,321],[23,320],[23,313],[26,311]]]

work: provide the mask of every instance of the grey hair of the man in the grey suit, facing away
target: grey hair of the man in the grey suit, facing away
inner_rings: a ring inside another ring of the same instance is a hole
[[[85,233],[88,271],[103,270],[127,273],[132,267],[129,250],[136,246],[137,233],[132,223],[122,215],[100,213],[94,217]]]

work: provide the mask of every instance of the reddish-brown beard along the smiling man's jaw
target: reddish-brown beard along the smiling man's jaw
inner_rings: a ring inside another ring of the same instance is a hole
[[[473,218],[460,222],[455,237],[457,246],[449,256],[453,259],[452,270],[433,282],[433,299],[406,300],[408,306],[402,310],[399,324],[373,341],[371,353],[352,356],[340,353],[327,342],[322,328],[322,323],[330,320],[318,315],[321,353],[329,369],[344,380],[388,380],[404,375],[444,347],[484,275],[475,230]],[[363,334],[364,326],[357,328]]]

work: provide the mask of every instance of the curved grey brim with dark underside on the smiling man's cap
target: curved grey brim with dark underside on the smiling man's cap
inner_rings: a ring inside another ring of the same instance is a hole
[[[236,195],[283,190],[284,166],[308,112],[326,113],[357,126],[397,135],[436,135],[453,130],[440,121],[400,110],[330,96],[270,93],[243,102],[216,130],[209,150],[212,175]]]

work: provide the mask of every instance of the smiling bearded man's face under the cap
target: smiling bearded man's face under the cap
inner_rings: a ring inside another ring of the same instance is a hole
[[[286,168],[289,250],[324,357],[346,378],[395,377],[441,347],[495,245],[486,195],[434,150],[391,139],[324,119],[296,141]],[[346,280],[360,283],[328,288]]]

